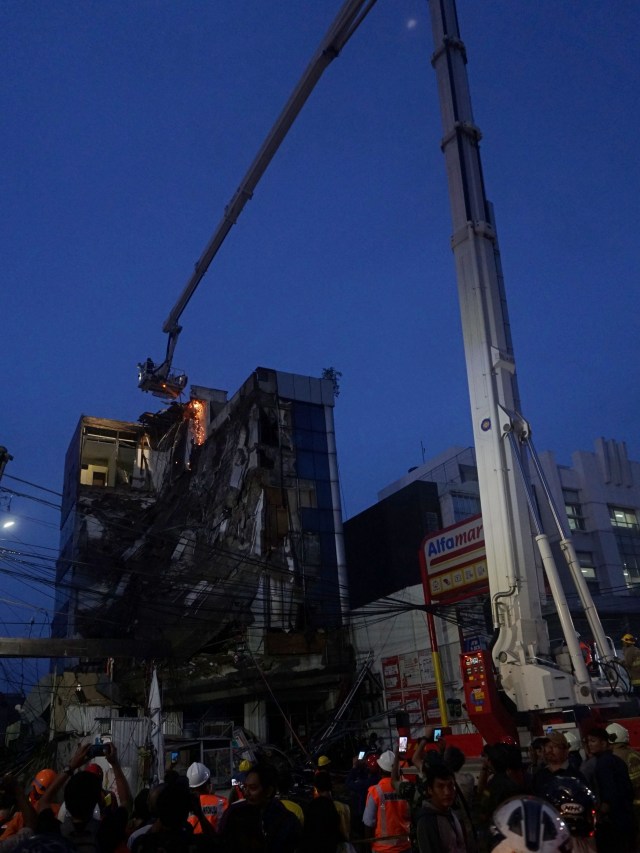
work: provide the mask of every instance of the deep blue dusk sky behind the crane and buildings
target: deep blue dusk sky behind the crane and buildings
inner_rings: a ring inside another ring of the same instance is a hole
[[[7,473],[59,490],[81,414],[160,407],[136,364],[163,356],[166,315],[339,5],[0,4]],[[638,459],[640,5],[458,12],[538,449],[569,462],[603,435]],[[347,516],[421,442],[471,443],[431,52],[425,0],[379,0],[182,318],[175,365],[197,384],[342,371]]]

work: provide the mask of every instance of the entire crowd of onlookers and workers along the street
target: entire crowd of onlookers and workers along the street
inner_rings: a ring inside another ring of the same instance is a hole
[[[115,745],[104,757],[110,790],[91,745],[27,792],[4,777],[0,853],[640,853],[640,754],[618,723],[583,742],[550,731],[528,760],[509,739],[487,745],[479,774],[444,741],[418,742],[410,761],[360,754],[346,774],[321,756],[302,802],[246,759],[229,796],[193,762],[133,799]]]

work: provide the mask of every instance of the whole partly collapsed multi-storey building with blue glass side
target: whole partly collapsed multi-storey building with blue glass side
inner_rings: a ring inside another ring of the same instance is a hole
[[[104,638],[105,659],[110,638],[157,642],[185,721],[321,725],[353,672],[333,405],[331,380],[258,368],[230,399],[192,386],[137,423],[81,417],[53,636]],[[116,661],[123,703],[141,671]]]

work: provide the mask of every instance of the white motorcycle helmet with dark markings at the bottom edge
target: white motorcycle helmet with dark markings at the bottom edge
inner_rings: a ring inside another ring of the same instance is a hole
[[[553,806],[538,797],[512,797],[493,813],[498,849],[513,853],[567,853],[571,833]]]

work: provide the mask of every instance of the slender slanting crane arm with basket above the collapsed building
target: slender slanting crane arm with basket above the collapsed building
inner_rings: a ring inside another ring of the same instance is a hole
[[[289,100],[267,134],[253,163],[243,177],[233,198],[225,207],[222,219],[218,223],[211,240],[198,259],[195,269],[187,281],[176,304],[164,322],[162,331],[169,335],[165,360],[155,365],[150,359],[142,362],[139,367],[138,387],[150,391],[159,397],[177,397],[184,389],[187,377],[184,374],[171,374],[173,352],[181,327],[179,320],[182,312],[189,304],[195,289],[202,281],[205,273],[224,240],[242,213],[245,204],[253,197],[260,178],[284,141],[291,125],[300,110],[313,92],[324,70],[339,56],[340,51],[360,26],[366,15],[371,11],[376,0],[346,0],[336,19],[329,27],[316,50],[311,62],[305,69]]]

